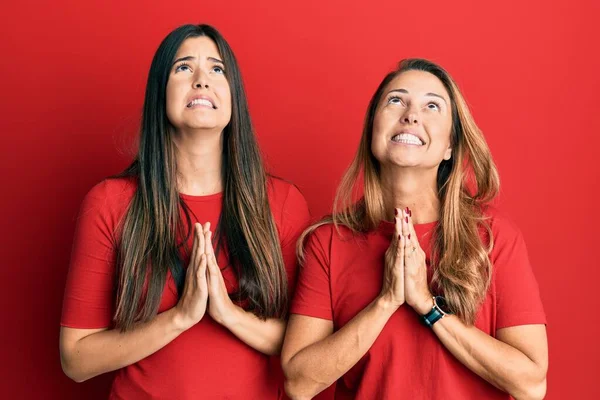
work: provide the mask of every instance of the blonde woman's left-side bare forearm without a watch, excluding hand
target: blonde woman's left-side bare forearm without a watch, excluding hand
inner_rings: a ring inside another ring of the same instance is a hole
[[[377,298],[339,331],[284,363],[286,392],[312,398],[344,375],[371,348],[397,307]]]

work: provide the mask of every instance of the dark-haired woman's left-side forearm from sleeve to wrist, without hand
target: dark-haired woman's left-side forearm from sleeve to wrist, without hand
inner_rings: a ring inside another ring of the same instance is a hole
[[[82,382],[123,368],[173,341],[184,331],[182,326],[176,309],[172,308],[128,332],[105,330],[68,345],[61,340],[63,370],[74,381]]]

